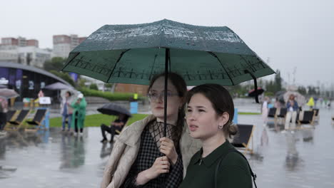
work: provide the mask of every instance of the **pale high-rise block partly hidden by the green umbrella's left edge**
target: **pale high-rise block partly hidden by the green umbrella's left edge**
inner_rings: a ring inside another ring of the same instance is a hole
[[[86,37],[78,37],[77,35],[54,35],[54,51],[53,57],[69,57],[70,51],[86,40]]]

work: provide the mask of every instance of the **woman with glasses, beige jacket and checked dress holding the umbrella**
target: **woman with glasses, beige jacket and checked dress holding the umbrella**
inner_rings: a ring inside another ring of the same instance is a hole
[[[164,74],[148,87],[152,115],[125,127],[113,146],[101,183],[110,187],[178,187],[191,156],[201,147],[184,125],[186,83],[168,73],[167,127],[163,137]]]

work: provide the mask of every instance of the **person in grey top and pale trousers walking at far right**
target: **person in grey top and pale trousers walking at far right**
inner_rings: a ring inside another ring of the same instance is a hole
[[[288,109],[288,113],[286,113],[285,127],[282,133],[286,132],[288,129],[292,129],[291,133],[294,133],[293,129],[295,129],[295,120],[297,118],[297,111],[299,109],[298,103],[295,101],[295,95],[291,94],[289,96],[289,100],[286,103],[286,108]]]

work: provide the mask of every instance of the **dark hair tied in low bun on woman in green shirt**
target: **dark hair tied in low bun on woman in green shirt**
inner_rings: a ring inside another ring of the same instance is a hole
[[[234,104],[230,93],[228,93],[228,90],[218,84],[207,83],[198,85],[195,88],[189,90],[186,98],[187,103],[190,102],[191,97],[196,93],[201,93],[208,100],[210,100],[217,116],[223,115],[223,113],[228,113],[228,122],[223,125],[224,135],[226,138],[231,138],[232,135],[236,135],[238,132],[238,127],[232,123],[234,116]]]

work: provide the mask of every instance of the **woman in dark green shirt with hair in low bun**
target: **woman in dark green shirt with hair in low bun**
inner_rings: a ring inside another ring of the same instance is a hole
[[[252,187],[246,158],[227,140],[238,131],[232,124],[234,105],[228,90],[217,84],[198,85],[189,91],[187,103],[190,135],[203,147],[191,158],[180,187]]]

